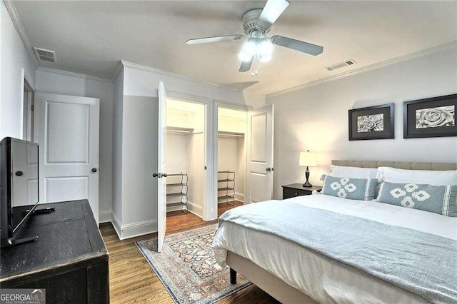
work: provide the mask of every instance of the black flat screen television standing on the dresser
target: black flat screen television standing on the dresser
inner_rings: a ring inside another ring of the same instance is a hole
[[[39,203],[38,153],[38,143],[21,141],[11,137],[6,137],[0,141],[0,231],[2,246],[36,239],[19,239],[19,230],[34,213]],[[26,207],[15,208],[20,206]],[[15,210],[18,214],[15,214]]]

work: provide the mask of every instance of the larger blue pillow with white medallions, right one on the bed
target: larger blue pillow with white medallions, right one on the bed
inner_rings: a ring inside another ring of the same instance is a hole
[[[456,218],[457,186],[431,186],[384,181],[379,188],[378,202]]]

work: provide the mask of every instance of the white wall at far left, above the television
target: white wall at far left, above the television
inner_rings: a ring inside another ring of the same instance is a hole
[[[21,138],[24,76],[35,88],[36,67],[29,59],[4,2],[0,5],[0,139],[6,136]]]

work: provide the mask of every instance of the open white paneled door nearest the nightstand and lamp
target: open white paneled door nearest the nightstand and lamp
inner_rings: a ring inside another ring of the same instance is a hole
[[[248,203],[273,198],[273,105],[248,111]]]

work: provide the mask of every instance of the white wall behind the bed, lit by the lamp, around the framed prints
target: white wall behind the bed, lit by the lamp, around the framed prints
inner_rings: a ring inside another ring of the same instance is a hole
[[[457,162],[457,138],[403,139],[403,101],[457,93],[457,51],[441,51],[381,69],[267,98],[275,107],[274,198],[301,183],[300,151],[316,151],[313,184],[332,159]],[[348,141],[348,110],[395,103],[395,139]]]

